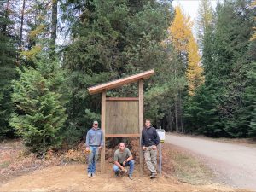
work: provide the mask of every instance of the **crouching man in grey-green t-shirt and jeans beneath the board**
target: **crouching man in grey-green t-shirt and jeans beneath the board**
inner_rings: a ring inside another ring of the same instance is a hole
[[[113,171],[116,176],[119,176],[119,172],[126,172],[125,166],[130,166],[129,168],[129,178],[132,180],[132,172],[134,170],[134,160],[132,160],[131,151],[125,148],[125,143],[119,143],[119,149],[114,152],[114,165]]]

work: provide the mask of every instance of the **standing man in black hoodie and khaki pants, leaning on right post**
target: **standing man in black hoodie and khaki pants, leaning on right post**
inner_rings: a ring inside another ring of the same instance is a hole
[[[150,178],[157,177],[157,148],[160,143],[160,138],[155,128],[151,126],[149,119],[146,119],[145,127],[142,131],[142,146],[144,151],[144,158],[148,166],[148,170],[151,172]]]

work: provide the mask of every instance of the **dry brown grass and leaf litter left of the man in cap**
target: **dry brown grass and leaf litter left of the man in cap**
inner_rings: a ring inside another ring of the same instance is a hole
[[[0,143],[0,183],[44,167],[73,162],[85,163],[85,160],[85,148],[82,143],[76,148],[58,153],[49,150],[44,159],[39,159],[35,154],[28,152],[22,140],[4,141]]]

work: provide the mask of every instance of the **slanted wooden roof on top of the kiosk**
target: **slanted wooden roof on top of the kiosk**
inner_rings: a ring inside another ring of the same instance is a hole
[[[92,86],[92,87],[88,88],[88,90],[89,90],[90,94],[96,94],[96,93],[102,92],[102,90],[111,90],[114,88],[118,88],[124,84],[130,84],[133,82],[137,82],[138,79],[148,79],[153,74],[154,74],[154,69],[149,70],[147,72],[131,75],[131,76],[123,78],[123,79],[117,79],[114,81],[110,81],[105,84],[98,84],[96,86]]]

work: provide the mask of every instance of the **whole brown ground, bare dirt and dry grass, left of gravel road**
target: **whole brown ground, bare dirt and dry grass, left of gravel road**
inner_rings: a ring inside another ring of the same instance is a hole
[[[128,143],[128,142],[127,142]],[[115,147],[106,151],[106,170],[97,177],[86,177],[83,143],[64,152],[52,152],[44,160],[26,154],[21,140],[0,143],[0,191],[241,191],[212,182],[212,172],[200,161],[180,149],[163,145],[163,177],[150,179],[138,169],[138,141],[128,146],[137,166],[134,180],[127,176],[114,177],[112,156]]]

